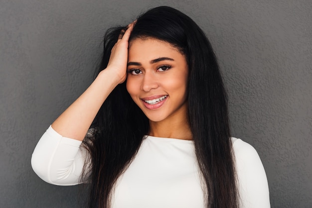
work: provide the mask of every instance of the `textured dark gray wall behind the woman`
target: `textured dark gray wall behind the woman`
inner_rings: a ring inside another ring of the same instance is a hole
[[[77,207],[77,186],[33,173],[33,148],[92,81],[105,30],[163,4],[210,38],[233,135],[258,150],[272,207],[312,207],[311,0],[0,0],[1,208]]]

